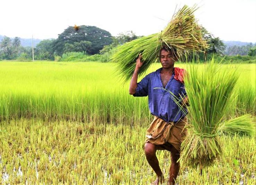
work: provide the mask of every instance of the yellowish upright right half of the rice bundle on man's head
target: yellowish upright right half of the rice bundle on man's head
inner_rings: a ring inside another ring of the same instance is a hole
[[[204,52],[207,47],[203,39],[202,28],[197,24],[194,17],[194,12],[197,9],[196,6],[189,8],[185,5],[161,32],[161,42],[171,49],[176,48],[178,57],[182,57],[184,52],[188,51]]]

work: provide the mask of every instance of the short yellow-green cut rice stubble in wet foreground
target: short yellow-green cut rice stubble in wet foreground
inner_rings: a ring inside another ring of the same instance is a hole
[[[0,184],[150,184],[144,133],[147,122],[130,127],[97,122],[12,120],[0,124]],[[181,166],[178,184],[256,184],[255,137],[220,137],[219,160],[203,171]],[[170,152],[157,151],[168,177]],[[238,165],[233,164],[233,159]],[[19,173],[19,169],[22,173]],[[241,174],[244,177],[241,177]]]

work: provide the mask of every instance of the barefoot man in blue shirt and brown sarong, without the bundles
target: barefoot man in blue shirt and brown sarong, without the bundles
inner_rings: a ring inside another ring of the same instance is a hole
[[[185,129],[187,110],[181,109],[187,103],[183,82],[184,70],[174,68],[174,62],[178,60],[175,50],[163,47],[160,51],[162,67],[146,75],[137,83],[138,72],[143,65],[141,58],[142,55],[139,54],[131,77],[129,94],[148,96],[149,109],[154,115],[154,120],[146,133],[144,145],[146,159],[157,175],[154,184],[160,184],[164,182],[164,176],[159,167],[156,150],[170,151],[171,166],[168,184],[174,184],[179,173],[177,160],[180,155],[180,145],[187,133]]]

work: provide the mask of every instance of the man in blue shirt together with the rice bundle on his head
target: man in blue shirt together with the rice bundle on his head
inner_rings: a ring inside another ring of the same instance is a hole
[[[129,93],[148,96],[150,111],[155,115],[147,130],[144,146],[147,161],[157,175],[154,184],[164,182],[156,150],[171,152],[168,184],[174,184],[179,172],[181,142],[187,133],[187,93],[183,82],[184,70],[174,67],[174,62],[191,52],[203,52],[208,46],[194,17],[196,9],[196,6],[189,8],[185,5],[174,13],[160,33],[125,43],[111,56],[111,61],[117,63],[120,77],[125,82],[131,79]],[[137,83],[138,76],[144,75],[158,59],[162,68]]]

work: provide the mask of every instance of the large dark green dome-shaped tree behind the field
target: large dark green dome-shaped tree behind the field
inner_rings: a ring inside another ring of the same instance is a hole
[[[88,54],[99,53],[103,46],[112,43],[111,34],[96,26],[82,25],[79,29],[69,26],[54,41],[54,50],[57,55],[62,55],[66,43],[74,44],[75,42],[80,43],[80,41],[89,41],[92,43],[91,48],[87,51]]]

